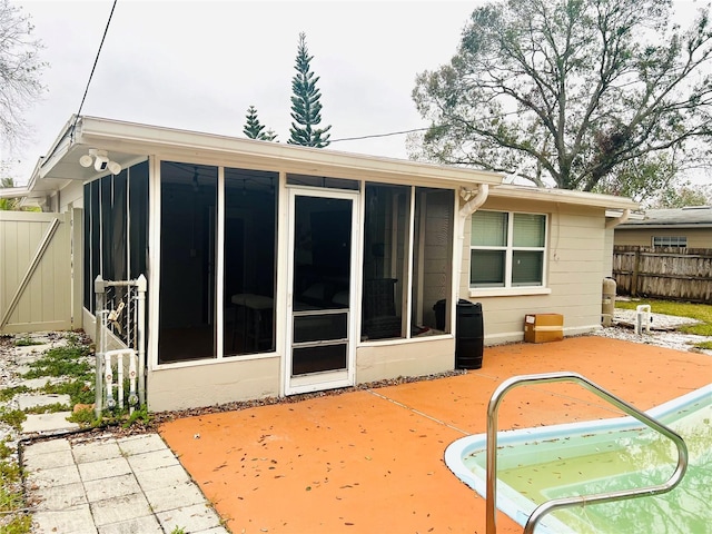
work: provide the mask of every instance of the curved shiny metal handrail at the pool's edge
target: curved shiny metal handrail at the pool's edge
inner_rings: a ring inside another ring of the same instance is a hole
[[[627,415],[635,417],[641,423],[650,426],[654,431],[660,432],[664,436],[674,442],[678,447],[678,466],[675,472],[664,484],[655,486],[641,487],[637,490],[622,490],[617,492],[596,493],[593,495],[578,495],[574,497],[554,498],[546,503],[540,504],[530,516],[524,526],[524,534],[532,534],[536,524],[541,518],[560,508],[584,506],[592,503],[609,503],[612,501],[622,501],[625,498],[634,498],[642,496],[660,495],[674,488],[688,469],[688,446],[685,442],[675,432],[668,428],[662,423],[650,417],[647,414],[639,411],[636,407],[627,404],[612,393],[605,390],[601,386],[586,379],[577,373],[543,373],[538,375],[514,376],[503,382],[492,394],[487,406],[487,490],[486,490],[486,534],[496,534],[496,501],[497,501],[497,411],[500,403],[505,393],[514,387],[532,384],[532,383],[550,383],[550,382],[574,382],[594,393],[599,397],[607,400]]]

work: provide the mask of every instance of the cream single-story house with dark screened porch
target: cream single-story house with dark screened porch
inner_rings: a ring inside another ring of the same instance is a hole
[[[86,332],[97,275],[146,275],[165,411],[453,369],[461,298],[482,303],[485,344],[522,340],[526,314],[599,328],[613,227],[637,205],[502,178],[78,117],[28,197],[83,209]]]

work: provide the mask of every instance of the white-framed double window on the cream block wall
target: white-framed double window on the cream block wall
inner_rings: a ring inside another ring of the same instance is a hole
[[[543,286],[545,253],[545,215],[475,211],[469,287]]]

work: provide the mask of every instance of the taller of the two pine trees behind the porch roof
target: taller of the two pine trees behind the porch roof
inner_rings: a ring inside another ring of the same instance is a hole
[[[299,33],[299,47],[295,70],[297,73],[291,79],[291,128],[289,129],[289,145],[303,145],[306,147],[324,148],[329,145],[327,131],[332,126],[319,129],[314,128],[322,122],[322,93],[316,88],[319,77],[312,72],[309,62],[314,56],[309,56],[306,43],[306,34]]]

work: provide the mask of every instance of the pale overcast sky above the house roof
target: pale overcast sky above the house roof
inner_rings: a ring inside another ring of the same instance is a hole
[[[112,0],[24,0],[49,63],[47,97],[26,113],[33,135],[13,167],[24,184],[79,110]],[[243,137],[248,106],[289,138],[299,32],[320,77],[330,149],[407,158],[406,136],[338,139],[424,128],[415,77],[449,61],[482,0],[119,0],[82,115]],[[683,11],[693,3],[676,0]],[[3,152],[3,159],[8,158]]]

